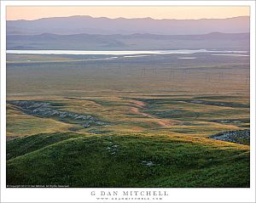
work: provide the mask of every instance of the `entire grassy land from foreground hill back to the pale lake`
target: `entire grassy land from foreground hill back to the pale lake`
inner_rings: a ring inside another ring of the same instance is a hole
[[[249,57],[7,55],[7,184],[249,187]],[[243,132],[243,131],[241,131]]]

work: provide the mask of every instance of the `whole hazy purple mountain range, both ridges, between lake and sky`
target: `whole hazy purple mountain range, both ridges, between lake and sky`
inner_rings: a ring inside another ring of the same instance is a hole
[[[90,16],[8,20],[7,49],[249,49],[250,20],[108,19]]]

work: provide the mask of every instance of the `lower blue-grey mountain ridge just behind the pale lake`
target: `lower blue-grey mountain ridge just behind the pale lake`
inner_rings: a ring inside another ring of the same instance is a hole
[[[163,49],[238,49],[250,46],[250,33],[212,32],[203,35],[8,35],[7,49],[59,50],[163,50]]]

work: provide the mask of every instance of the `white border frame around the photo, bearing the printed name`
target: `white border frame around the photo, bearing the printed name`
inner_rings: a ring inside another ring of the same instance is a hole
[[[7,189],[6,188],[6,6],[250,6],[251,187],[248,189]],[[102,202],[92,191],[167,191],[159,202],[255,202],[255,2],[254,1],[1,1],[1,202]],[[118,196],[120,197],[120,196]],[[157,200],[108,200],[108,202]],[[107,202],[105,200],[105,202]]]

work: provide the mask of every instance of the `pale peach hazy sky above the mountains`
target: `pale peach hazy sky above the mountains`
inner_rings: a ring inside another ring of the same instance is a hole
[[[35,20],[46,17],[64,17],[71,15],[90,15],[108,18],[144,18],[153,19],[222,19],[241,15],[250,15],[249,7],[187,6],[187,7],[7,7],[7,20]]]

